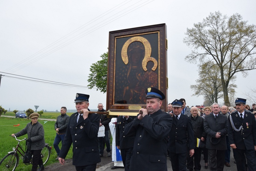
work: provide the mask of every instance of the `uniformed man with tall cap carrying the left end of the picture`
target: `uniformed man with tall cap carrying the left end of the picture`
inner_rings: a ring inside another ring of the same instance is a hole
[[[70,116],[67,132],[59,154],[61,165],[73,143],[73,165],[77,171],[95,171],[100,162],[98,131],[100,117],[89,114],[89,95],[76,94],[75,107],[77,112]],[[82,114],[80,114],[80,112]]]

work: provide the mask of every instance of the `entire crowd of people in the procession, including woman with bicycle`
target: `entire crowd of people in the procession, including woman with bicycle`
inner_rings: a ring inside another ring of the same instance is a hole
[[[234,107],[213,103],[200,110],[197,106],[189,108],[182,98],[169,103],[168,111],[164,112],[160,108],[165,95],[160,90],[148,87],[145,94],[146,109],[141,108],[137,116],[118,116],[116,122],[111,122],[106,115],[89,112],[89,95],[77,93],[74,101],[77,112],[68,116],[67,108],[61,107],[55,123],[56,160],[64,165],[73,144],[76,170],[96,170],[105,144],[107,156],[111,156],[109,125],[114,124],[112,143],[120,150],[125,171],[167,171],[167,157],[173,171],[197,171],[201,170],[201,154],[204,168],[221,171],[225,165],[230,167],[230,147],[237,170],[256,170],[256,104],[250,109],[246,99],[237,98]],[[98,104],[98,112],[105,112],[102,103]],[[40,155],[45,145],[44,130],[37,122],[38,117],[38,113],[31,114],[31,123],[12,134],[16,137],[28,134],[32,171],[44,170]],[[105,127],[104,137],[98,137],[101,126]]]

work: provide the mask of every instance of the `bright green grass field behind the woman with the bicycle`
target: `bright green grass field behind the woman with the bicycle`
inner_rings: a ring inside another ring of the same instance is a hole
[[[71,113],[67,113],[68,115],[71,115]],[[2,114],[3,115],[3,114]],[[9,115],[9,116],[15,116],[15,114],[13,112],[6,112],[5,115]],[[42,117],[40,118],[51,118],[51,119],[56,119],[57,116],[60,115],[60,113],[44,113],[42,115]],[[13,151],[12,148],[15,147],[17,145],[17,141],[15,140],[15,138],[9,136],[12,133],[16,133],[20,130],[22,130],[23,128],[26,127],[27,123],[30,122],[30,119],[24,119],[24,118],[9,118],[9,117],[0,117],[0,160],[10,151]],[[59,161],[55,160],[55,158],[57,157],[56,151],[53,147],[53,142],[54,142],[54,138],[56,136],[56,131],[54,130],[54,124],[55,121],[47,121],[46,123],[44,123],[43,120],[39,120],[39,122],[43,125],[44,127],[44,139],[45,142],[49,144],[49,146],[52,146],[52,153],[50,156],[50,159],[48,160],[48,162],[46,163],[45,166],[50,165],[52,163],[56,163],[57,165],[59,164]],[[19,124],[19,126],[15,127],[14,125]],[[27,138],[27,135],[19,137],[18,139],[22,140],[24,138]],[[22,148],[24,148],[25,150],[25,141],[22,141],[20,143],[20,145],[22,146]],[[61,146],[61,143],[59,144]],[[69,150],[69,153],[66,157],[66,159],[68,158],[72,158],[72,146]],[[22,160],[19,160],[19,165],[16,168],[16,170],[20,170],[20,171],[30,171],[32,168],[32,165],[25,165]]]

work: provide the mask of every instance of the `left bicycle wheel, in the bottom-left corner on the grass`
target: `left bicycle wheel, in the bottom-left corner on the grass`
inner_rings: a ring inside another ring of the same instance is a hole
[[[7,154],[0,161],[0,170],[1,171],[14,171],[19,163],[19,156],[14,152]]]

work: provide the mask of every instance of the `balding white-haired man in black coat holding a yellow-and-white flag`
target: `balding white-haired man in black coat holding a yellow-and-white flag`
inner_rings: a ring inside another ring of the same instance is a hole
[[[187,158],[187,170],[193,171],[193,166],[195,171],[201,170],[200,160],[201,160],[201,148],[197,147],[197,139],[200,139],[201,141],[204,141],[206,137],[206,133],[203,129],[203,117],[198,115],[198,109],[197,107],[193,106],[190,109],[191,113],[191,122],[193,126],[194,131],[194,140],[195,140],[195,153],[192,157],[188,156]],[[193,161],[194,160],[194,161]]]

